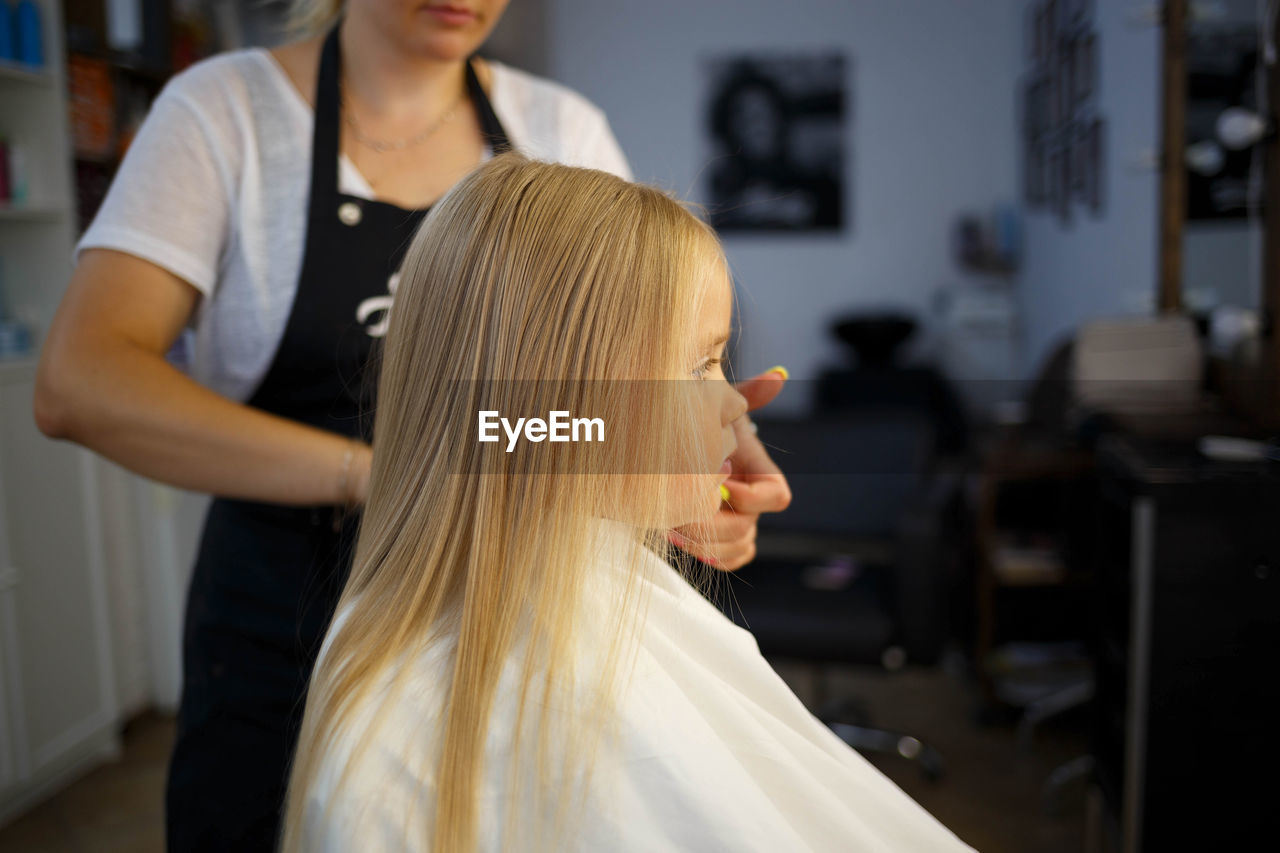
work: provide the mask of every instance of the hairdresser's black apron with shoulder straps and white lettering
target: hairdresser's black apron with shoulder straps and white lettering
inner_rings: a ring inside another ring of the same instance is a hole
[[[370,441],[376,356],[410,240],[426,210],[338,192],[338,28],[316,82],[306,250],[271,366],[250,406]],[[486,142],[509,147],[475,69]],[[379,329],[379,324],[381,328]],[[305,690],[351,567],[358,515],[214,498],[183,624],[169,763],[169,850],[274,850]]]

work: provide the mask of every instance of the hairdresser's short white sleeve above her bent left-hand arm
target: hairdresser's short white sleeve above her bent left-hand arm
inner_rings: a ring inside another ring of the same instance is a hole
[[[77,259],[86,248],[119,250],[212,295],[239,156],[229,128],[212,117],[182,91],[180,76],[169,82],[76,246]]]

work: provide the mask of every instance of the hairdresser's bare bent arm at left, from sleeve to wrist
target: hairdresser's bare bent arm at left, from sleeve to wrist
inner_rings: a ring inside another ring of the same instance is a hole
[[[165,360],[198,300],[150,261],[84,251],[41,351],[40,430],[186,489],[293,505],[362,501],[367,444],[228,400]]]

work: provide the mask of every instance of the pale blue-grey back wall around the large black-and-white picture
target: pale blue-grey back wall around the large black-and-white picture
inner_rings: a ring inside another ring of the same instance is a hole
[[[842,357],[827,341],[833,313],[927,310],[965,278],[951,261],[954,218],[1016,199],[1018,3],[545,0],[547,70],[607,111],[637,179],[705,201],[699,60],[845,51],[851,227],[726,238],[742,297],[737,374],[785,364],[805,378]]]

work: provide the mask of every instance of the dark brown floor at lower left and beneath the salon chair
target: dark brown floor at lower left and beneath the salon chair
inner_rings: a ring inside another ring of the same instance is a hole
[[[801,699],[814,698],[813,670],[780,663],[778,671]],[[914,734],[942,752],[948,770],[936,783],[901,758],[873,761],[975,849],[1083,849],[1083,794],[1069,795],[1059,817],[1046,816],[1041,804],[1050,771],[1084,752],[1078,730],[1050,726],[1029,748],[1019,748],[1009,726],[975,724],[972,689],[940,670],[890,675],[831,669],[820,686],[828,698],[859,697],[872,722]],[[161,853],[164,774],[173,731],[166,716],[147,713],[133,720],[123,733],[120,760],[0,827],[0,853]]]

